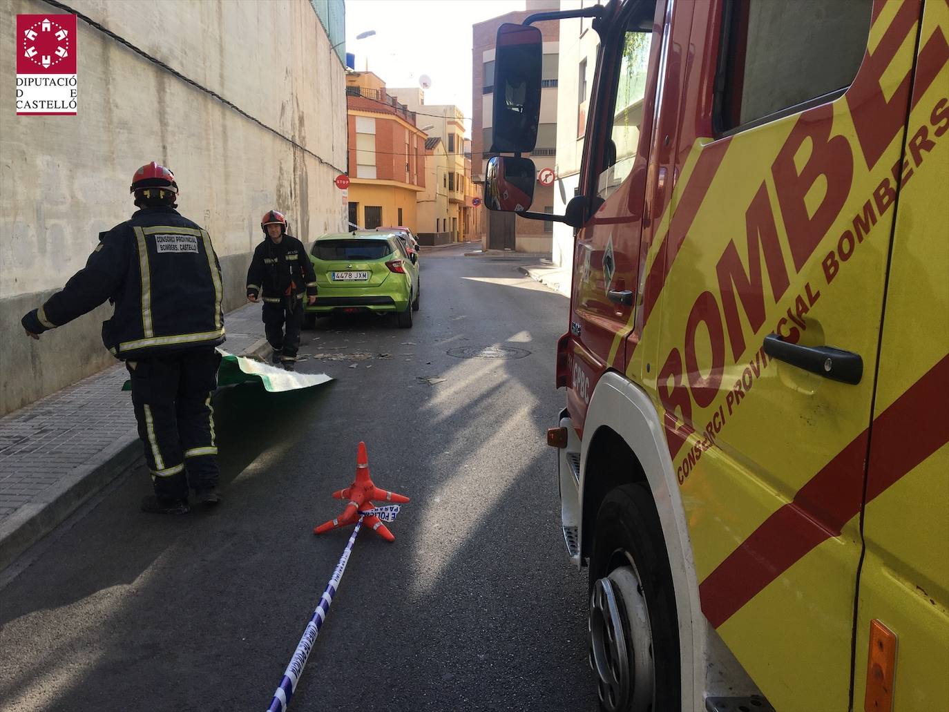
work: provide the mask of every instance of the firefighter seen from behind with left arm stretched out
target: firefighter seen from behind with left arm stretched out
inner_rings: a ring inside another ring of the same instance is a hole
[[[175,176],[151,162],[136,171],[129,192],[139,208],[99,234],[85,268],[62,291],[23,317],[34,339],[95,309],[115,312],[102,342],[125,362],[139,437],[155,495],[141,509],[186,514],[189,479],[206,505],[220,501],[214,409],[224,341],[221,269],[207,231],[178,214]]]

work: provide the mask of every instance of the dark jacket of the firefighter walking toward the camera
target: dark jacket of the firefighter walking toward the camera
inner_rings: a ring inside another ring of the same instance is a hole
[[[305,293],[314,296],[316,273],[303,243],[291,234],[285,234],[279,245],[265,237],[253,251],[247,293],[273,304],[283,302],[285,296],[295,300],[303,299]]]

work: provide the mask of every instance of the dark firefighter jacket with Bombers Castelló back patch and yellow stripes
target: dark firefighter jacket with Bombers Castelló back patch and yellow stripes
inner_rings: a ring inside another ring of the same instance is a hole
[[[22,323],[42,333],[108,299],[115,312],[102,323],[102,343],[120,359],[139,360],[221,344],[222,292],[207,231],[174,208],[143,208],[100,233],[85,268]]]

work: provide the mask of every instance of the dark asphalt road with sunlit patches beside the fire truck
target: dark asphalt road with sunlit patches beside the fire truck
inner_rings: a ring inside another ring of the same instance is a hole
[[[348,531],[311,532],[359,440],[412,501],[395,543],[360,534],[290,709],[595,708],[544,440],[567,300],[517,261],[421,262],[414,328],[304,332],[298,369],[334,382],[218,393],[219,508],[141,514],[139,468],[27,554],[0,590],[0,708],[265,709],[343,552]]]

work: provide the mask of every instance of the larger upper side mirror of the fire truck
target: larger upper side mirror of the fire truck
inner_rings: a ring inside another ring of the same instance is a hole
[[[492,153],[530,153],[540,121],[544,41],[538,28],[505,23],[494,49]]]

